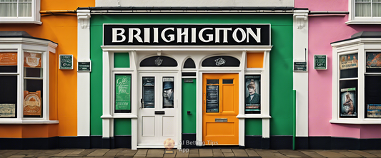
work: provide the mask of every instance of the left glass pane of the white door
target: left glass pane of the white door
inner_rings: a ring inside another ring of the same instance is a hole
[[[155,107],[155,78],[143,78],[143,108]]]

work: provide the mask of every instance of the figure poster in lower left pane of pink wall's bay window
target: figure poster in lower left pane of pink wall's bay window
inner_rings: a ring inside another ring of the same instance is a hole
[[[340,117],[357,117],[356,88],[340,90]]]

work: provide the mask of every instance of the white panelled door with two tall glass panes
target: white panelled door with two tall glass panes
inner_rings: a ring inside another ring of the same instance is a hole
[[[176,74],[139,73],[138,147],[164,148],[168,138],[177,144]]]

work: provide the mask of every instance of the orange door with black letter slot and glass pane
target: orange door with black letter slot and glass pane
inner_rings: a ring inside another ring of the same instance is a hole
[[[204,73],[202,140],[206,145],[238,144],[238,73]]]

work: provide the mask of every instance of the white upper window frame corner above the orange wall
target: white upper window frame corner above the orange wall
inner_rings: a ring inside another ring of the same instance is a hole
[[[41,0],[31,0],[30,17],[6,17],[0,16],[0,23],[35,23],[41,25],[40,15]]]

